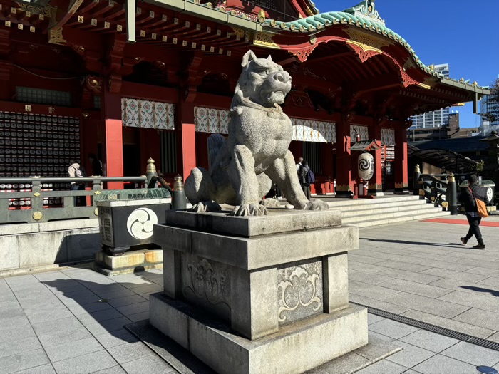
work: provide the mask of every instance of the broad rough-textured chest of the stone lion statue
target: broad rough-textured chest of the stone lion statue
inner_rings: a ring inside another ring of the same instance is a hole
[[[284,157],[292,140],[291,120],[284,113],[245,108],[232,117],[231,133],[257,158]],[[231,134],[232,135],[232,134]]]

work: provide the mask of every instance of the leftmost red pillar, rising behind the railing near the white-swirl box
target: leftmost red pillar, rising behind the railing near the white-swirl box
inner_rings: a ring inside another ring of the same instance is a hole
[[[123,177],[123,123],[121,96],[105,90],[104,126],[106,130],[106,176]],[[109,182],[108,189],[123,189],[123,182]]]

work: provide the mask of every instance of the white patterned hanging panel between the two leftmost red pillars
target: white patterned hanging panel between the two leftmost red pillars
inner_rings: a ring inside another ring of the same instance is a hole
[[[121,98],[123,126],[130,128],[175,128],[175,105],[158,101]]]

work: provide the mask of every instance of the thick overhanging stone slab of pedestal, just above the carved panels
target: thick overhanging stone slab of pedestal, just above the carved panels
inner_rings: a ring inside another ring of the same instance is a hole
[[[160,243],[163,248],[191,253],[245,270],[287,264],[359,248],[358,228],[349,226],[247,239],[158,225],[155,227],[154,237],[155,243]],[[189,240],[185,241],[185,237]],[[307,246],[303,243],[307,243]],[[282,248],[287,250],[282,251]]]

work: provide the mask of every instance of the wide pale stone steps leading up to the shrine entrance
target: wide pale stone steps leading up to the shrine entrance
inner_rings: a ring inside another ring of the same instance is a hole
[[[328,201],[331,209],[341,210],[342,223],[358,227],[395,224],[419,219],[448,216],[441,207],[434,207],[419,196],[404,195],[376,199],[337,199]]]

